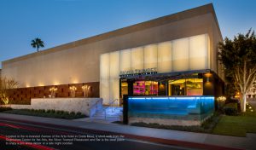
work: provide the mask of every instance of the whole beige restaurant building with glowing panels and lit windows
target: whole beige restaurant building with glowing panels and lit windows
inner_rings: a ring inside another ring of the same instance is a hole
[[[224,94],[218,62],[222,41],[212,4],[166,15],[113,32],[84,38],[2,62],[2,76],[19,88],[11,101],[69,97],[75,86],[103,104],[122,103],[123,95]]]

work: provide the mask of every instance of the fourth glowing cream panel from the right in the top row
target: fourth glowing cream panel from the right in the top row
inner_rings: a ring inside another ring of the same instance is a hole
[[[151,44],[144,47],[144,68],[157,67],[157,45]]]

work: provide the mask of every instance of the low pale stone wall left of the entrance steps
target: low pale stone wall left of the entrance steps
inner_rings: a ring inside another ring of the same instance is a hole
[[[54,109],[92,116],[102,109],[102,98],[35,98],[31,105],[10,105],[13,109]]]

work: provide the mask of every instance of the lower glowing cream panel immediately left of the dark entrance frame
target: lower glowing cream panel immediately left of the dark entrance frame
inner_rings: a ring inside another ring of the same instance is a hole
[[[118,79],[110,79],[109,82],[109,104],[114,100],[119,99],[119,78]],[[113,104],[118,105],[118,101],[115,101]]]

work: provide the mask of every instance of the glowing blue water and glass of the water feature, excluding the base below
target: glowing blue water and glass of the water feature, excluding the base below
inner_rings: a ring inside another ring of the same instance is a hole
[[[214,97],[129,97],[128,110],[129,117],[201,120],[214,112]]]

